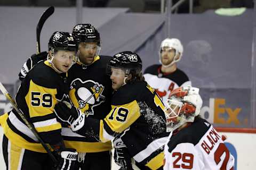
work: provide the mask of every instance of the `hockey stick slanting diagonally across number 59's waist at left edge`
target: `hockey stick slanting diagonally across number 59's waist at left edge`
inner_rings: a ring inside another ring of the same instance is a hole
[[[12,96],[5,89],[5,87],[3,86],[2,82],[0,82],[0,90],[2,91],[4,96],[10,101],[10,103],[12,104],[13,108],[15,109],[15,111],[17,111],[17,113],[20,115],[20,117],[25,122],[25,124],[28,126],[28,128],[31,130],[31,132],[33,132],[33,134],[35,135],[37,140],[42,144],[42,146],[44,147],[44,149],[46,150],[46,152],[49,154],[50,158],[52,159],[53,163],[55,165],[57,165],[58,164],[58,160],[53,156],[50,148],[44,143],[44,141],[41,139],[41,137],[39,137],[39,135],[38,135],[34,125],[27,120],[27,118],[25,117],[24,114],[21,113],[21,111],[18,108],[17,103],[14,101]]]

